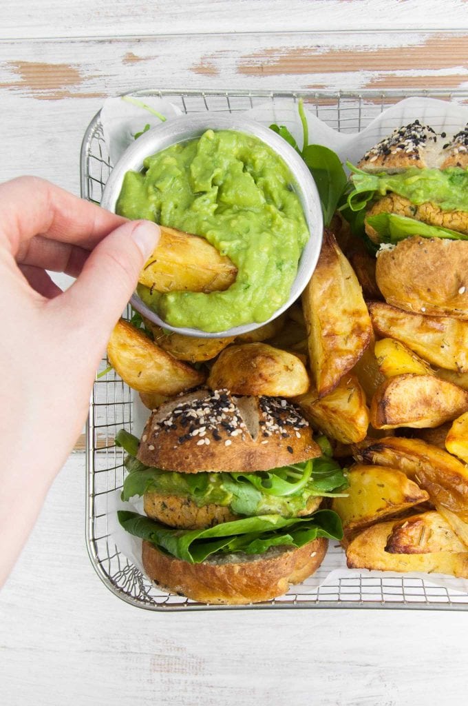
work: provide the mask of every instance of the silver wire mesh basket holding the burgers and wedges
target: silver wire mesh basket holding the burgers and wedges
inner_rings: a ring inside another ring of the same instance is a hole
[[[164,97],[184,113],[242,112],[279,99],[297,102],[339,131],[357,132],[391,104],[419,95],[468,103],[468,92],[271,92],[271,91],[178,91],[141,90],[132,95]],[[112,165],[102,133],[99,113],[87,128],[81,150],[82,196],[101,201]],[[101,372],[106,361],[101,362]],[[453,579],[450,589],[421,578],[394,573],[350,571],[343,551],[331,542],[324,562],[314,577],[294,586],[283,597],[252,606],[206,606],[168,594],[147,579],[126,558],[111,535],[113,498],[123,486],[123,450],[114,444],[119,429],[132,430],[133,400],[128,385],[114,371],[97,378],[90,400],[87,423],[86,539],[92,565],[99,578],[116,596],[140,608],[159,611],[278,609],[278,608],[417,608],[468,609],[466,583]],[[341,567],[339,570],[338,567]],[[460,588],[460,590],[458,590]],[[463,590],[464,589],[464,590]]]

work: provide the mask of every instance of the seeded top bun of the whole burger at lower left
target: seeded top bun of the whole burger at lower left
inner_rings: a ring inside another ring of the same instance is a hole
[[[197,473],[263,471],[320,455],[308,422],[287,400],[199,388],[154,410],[137,458]]]

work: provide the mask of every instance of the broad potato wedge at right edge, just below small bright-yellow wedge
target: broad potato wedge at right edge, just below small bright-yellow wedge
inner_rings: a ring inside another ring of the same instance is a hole
[[[440,426],[468,410],[468,392],[433,375],[396,375],[376,390],[371,402],[375,429]]]

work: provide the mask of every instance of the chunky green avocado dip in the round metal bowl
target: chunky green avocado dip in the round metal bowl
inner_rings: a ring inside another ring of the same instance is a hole
[[[202,236],[238,268],[224,292],[137,292],[168,324],[218,333],[261,323],[286,301],[309,238],[293,175],[268,145],[207,130],[127,172],[116,213]]]

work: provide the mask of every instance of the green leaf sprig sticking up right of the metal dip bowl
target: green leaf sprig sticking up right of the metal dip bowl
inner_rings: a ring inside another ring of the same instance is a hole
[[[324,145],[309,145],[309,126],[302,98],[299,101],[298,110],[303,133],[302,150],[299,149],[295,138],[284,125],[273,124],[270,125],[270,128],[285,139],[309,167],[319,192],[324,225],[328,226],[345,191],[347,177],[340,158],[333,150],[329,150]]]

